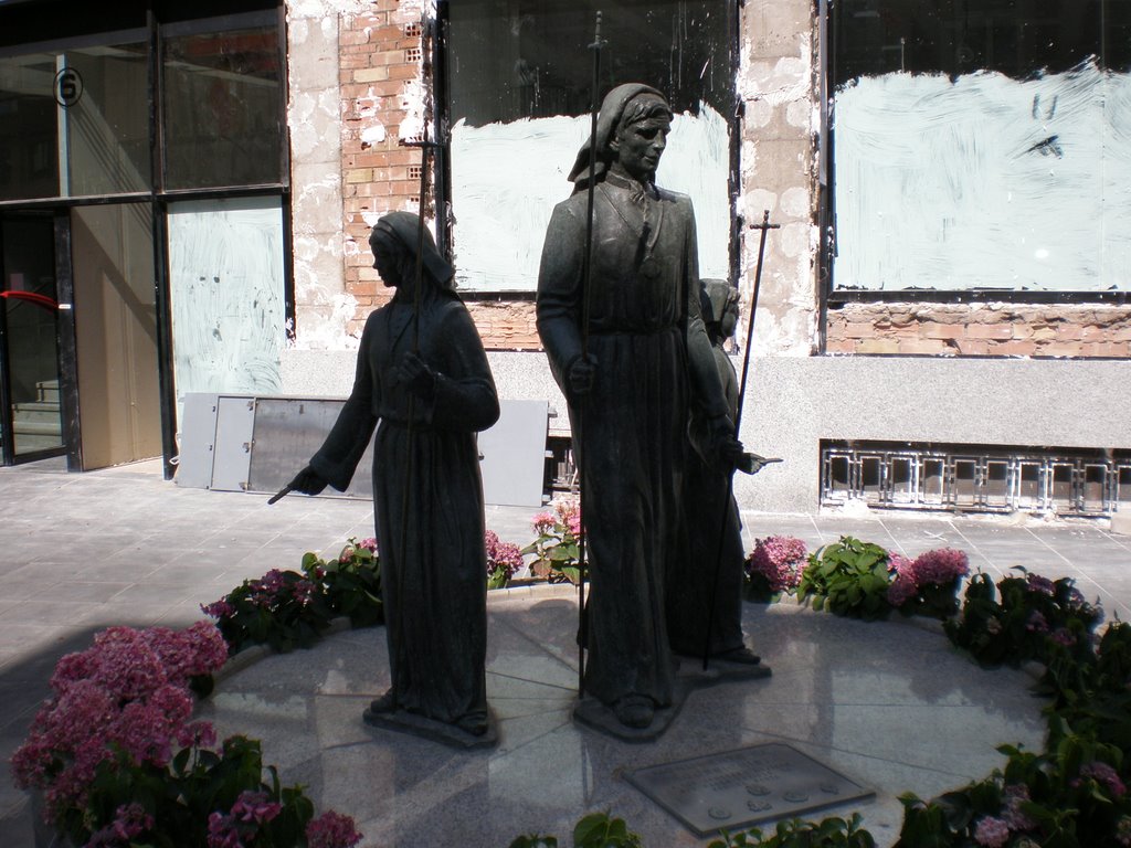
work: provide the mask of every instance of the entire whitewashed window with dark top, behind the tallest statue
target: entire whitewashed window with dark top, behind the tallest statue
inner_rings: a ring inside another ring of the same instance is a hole
[[[555,204],[589,133],[595,5],[448,6],[452,246],[464,291],[532,292]],[[731,276],[733,3],[603,3],[599,96],[645,83],[675,120],[656,182],[691,196],[703,277]]]

